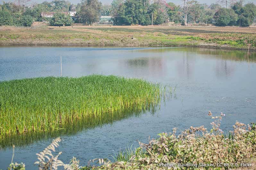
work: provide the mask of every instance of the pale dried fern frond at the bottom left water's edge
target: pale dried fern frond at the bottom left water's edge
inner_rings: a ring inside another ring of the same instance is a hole
[[[56,156],[52,154],[52,151],[55,152],[55,147],[59,146],[58,142],[61,142],[59,137],[54,139],[42,152],[36,154],[39,161],[36,161],[35,164],[38,164],[39,170],[48,170],[49,168],[50,170],[57,170],[58,166],[64,166],[64,163],[58,160],[62,152],[59,152]]]

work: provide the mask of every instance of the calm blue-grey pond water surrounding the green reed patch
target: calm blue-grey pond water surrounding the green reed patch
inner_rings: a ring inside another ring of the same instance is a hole
[[[87,165],[94,158],[112,159],[118,151],[149,136],[212,120],[207,115],[226,114],[222,129],[232,129],[235,121],[256,122],[256,53],[206,48],[76,48],[76,47],[0,47],[0,81],[30,77],[80,77],[89,74],[143,78],[176,86],[172,97],[154,113],[126,111],[106,114],[99,120],[85,120],[64,131],[35,133],[0,139],[0,169],[11,162],[11,144],[16,144],[15,162],[34,169],[36,153],[54,137],[63,141],[57,151],[68,163],[72,156]]]

